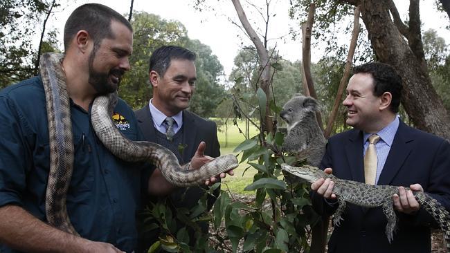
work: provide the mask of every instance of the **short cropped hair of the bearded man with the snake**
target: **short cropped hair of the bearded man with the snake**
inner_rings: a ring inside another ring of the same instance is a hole
[[[102,39],[113,38],[111,21],[118,21],[129,30],[133,31],[132,25],[115,10],[99,3],[87,3],[76,8],[64,26],[64,50],[68,50],[73,37],[79,30],[87,30],[94,44],[100,44]]]

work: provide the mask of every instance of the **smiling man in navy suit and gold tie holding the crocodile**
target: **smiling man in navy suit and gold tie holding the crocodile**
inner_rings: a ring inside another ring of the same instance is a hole
[[[348,203],[341,225],[334,227],[328,252],[430,252],[430,227],[435,221],[404,187],[425,191],[450,210],[450,144],[399,120],[401,91],[402,78],[392,66],[355,67],[343,101],[346,122],[354,129],[330,138],[321,163],[321,169],[338,178],[399,186],[399,194],[393,196],[398,217],[393,241],[386,237],[387,220],[381,207],[366,209]],[[369,153],[374,151],[375,165],[369,165]],[[337,207],[331,193],[334,182],[321,178],[311,187],[316,210],[333,214]]]

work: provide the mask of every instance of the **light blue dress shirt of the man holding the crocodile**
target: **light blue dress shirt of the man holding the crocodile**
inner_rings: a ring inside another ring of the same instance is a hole
[[[386,163],[386,159],[388,158],[390,147],[392,146],[395,133],[397,133],[398,128],[399,116],[396,115],[393,122],[390,122],[384,129],[381,129],[378,133],[375,133],[380,137],[379,141],[375,144],[375,148],[377,149],[377,178],[375,179],[375,185],[377,185],[379,176],[381,175],[381,171],[383,171],[384,164]],[[369,147],[368,138],[372,134],[374,133],[364,133],[363,135],[364,156],[366,156],[366,150]]]

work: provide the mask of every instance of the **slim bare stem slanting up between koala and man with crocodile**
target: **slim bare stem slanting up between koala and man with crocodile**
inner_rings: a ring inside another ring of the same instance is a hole
[[[334,125],[334,120],[336,120],[337,111],[339,109],[339,105],[341,104],[344,86],[347,83],[348,76],[350,75],[350,68],[353,62],[354,50],[357,47],[358,35],[359,35],[359,7],[354,9],[352,40],[350,41],[350,48],[348,49],[347,61],[345,62],[344,73],[341,82],[339,83],[339,88],[336,94],[336,100],[334,100],[333,110],[330,115],[330,119],[328,120],[327,128],[325,129],[325,138],[330,137]]]

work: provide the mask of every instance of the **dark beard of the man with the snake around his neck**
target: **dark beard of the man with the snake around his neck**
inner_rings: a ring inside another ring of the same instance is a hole
[[[93,69],[93,60],[96,55],[96,48],[94,46],[91,55],[89,56],[89,79],[88,82],[93,86],[99,95],[106,95],[112,93],[118,89],[120,84],[120,77],[125,73],[120,68],[114,68],[109,71],[109,73],[100,73]],[[118,82],[115,84],[109,79],[110,75],[118,77]]]

